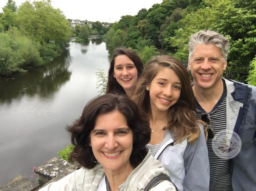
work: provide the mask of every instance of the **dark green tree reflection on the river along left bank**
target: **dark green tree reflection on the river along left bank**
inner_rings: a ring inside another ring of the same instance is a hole
[[[54,92],[70,79],[72,74],[68,70],[71,62],[69,53],[62,55],[48,65],[37,68],[26,74],[16,74],[12,78],[0,79],[0,103],[10,104],[13,99],[20,99],[23,95],[51,97]]]

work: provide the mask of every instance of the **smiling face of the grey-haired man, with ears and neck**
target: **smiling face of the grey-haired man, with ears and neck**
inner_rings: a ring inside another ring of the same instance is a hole
[[[195,45],[194,53],[188,60],[195,87],[218,89],[222,86],[221,76],[227,62],[214,44]]]

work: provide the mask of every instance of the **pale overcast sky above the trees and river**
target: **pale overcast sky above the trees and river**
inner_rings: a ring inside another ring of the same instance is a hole
[[[14,0],[17,6],[25,1]],[[7,2],[0,0],[0,12]],[[62,10],[67,19],[109,23],[119,21],[123,15],[137,15],[139,10],[148,10],[155,3],[162,3],[162,0],[51,0],[51,5]]]

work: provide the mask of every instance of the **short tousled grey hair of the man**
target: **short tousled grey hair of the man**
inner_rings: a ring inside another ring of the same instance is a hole
[[[195,34],[191,35],[190,40],[188,42],[189,59],[192,57],[194,53],[193,51],[195,45],[198,44],[214,44],[216,47],[220,48],[221,54],[225,60],[228,57],[228,50],[230,47],[229,40],[228,38],[224,37],[216,31],[204,30],[198,31]]]

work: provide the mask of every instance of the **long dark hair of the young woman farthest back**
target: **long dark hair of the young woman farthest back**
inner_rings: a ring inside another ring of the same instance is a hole
[[[138,76],[137,76],[138,79],[140,77],[140,74],[143,71],[143,67],[144,67],[143,63],[136,52],[134,52],[132,49],[129,49],[129,48],[124,48],[124,47],[116,48],[112,53],[112,57],[110,61],[106,93],[126,94],[122,86],[116,81],[116,78],[114,78],[115,58],[119,55],[126,55],[132,60],[132,62],[134,63],[135,67],[138,70]]]

